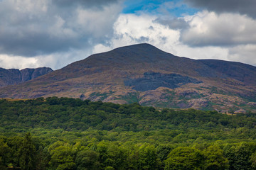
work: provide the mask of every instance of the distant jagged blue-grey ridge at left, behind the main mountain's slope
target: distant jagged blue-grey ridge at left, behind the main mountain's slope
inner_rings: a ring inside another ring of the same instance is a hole
[[[36,69],[3,69],[0,68],[0,87],[21,84],[44,74],[53,72],[53,69],[41,67]]]

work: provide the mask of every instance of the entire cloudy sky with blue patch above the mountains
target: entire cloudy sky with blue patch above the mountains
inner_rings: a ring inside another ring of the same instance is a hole
[[[255,0],[0,0],[0,67],[60,69],[149,43],[256,66]]]

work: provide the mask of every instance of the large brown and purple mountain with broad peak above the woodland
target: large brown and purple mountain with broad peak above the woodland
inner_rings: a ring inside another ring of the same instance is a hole
[[[0,89],[2,98],[72,97],[143,106],[256,111],[256,67],[177,57],[149,44],[91,55],[31,81]]]

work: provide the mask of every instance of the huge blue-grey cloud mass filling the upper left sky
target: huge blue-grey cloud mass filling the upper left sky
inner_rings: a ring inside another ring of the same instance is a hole
[[[111,37],[120,11],[115,0],[0,1],[0,54],[36,57],[90,48]]]

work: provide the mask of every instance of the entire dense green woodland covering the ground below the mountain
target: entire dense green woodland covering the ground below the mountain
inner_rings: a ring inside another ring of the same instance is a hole
[[[0,100],[0,169],[256,169],[256,113]]]

